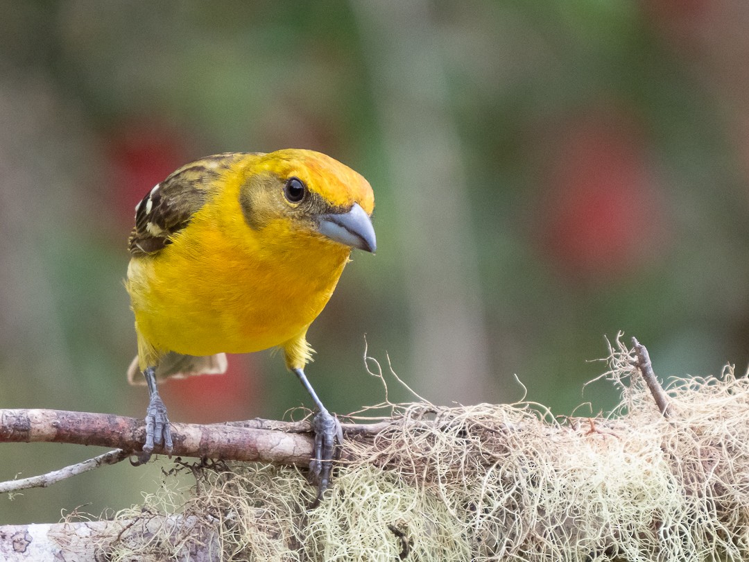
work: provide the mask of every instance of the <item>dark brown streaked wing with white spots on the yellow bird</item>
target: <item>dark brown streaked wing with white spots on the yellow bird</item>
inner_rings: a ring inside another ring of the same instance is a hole
[[[216,154],[187,164],[156,184],[136,205],[136,226],[127,246],[132,256],[146,256],[172,244],[172,236],[189,224],[207,201],[216,178],[243,153]]]

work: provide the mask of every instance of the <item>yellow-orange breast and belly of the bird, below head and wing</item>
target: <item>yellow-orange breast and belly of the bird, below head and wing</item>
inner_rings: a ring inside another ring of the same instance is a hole
[[[177,239],[157,256],[130,262],[136,330],[157,353],[247,353],[303,335],[349,255],[324,241],[278,255],[210,238],[202,232],[199,242]]]

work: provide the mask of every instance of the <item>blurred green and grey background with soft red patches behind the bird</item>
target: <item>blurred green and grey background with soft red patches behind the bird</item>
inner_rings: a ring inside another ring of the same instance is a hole
[[[122,280],[133,208],[184,163],[313,148],[375,189],[309,332],[333,411],[384,399],[363,355],[437,404],[607,411],[604,336],[656,373],[745,372],[749,4],[743,0],[13,1],[0,19],[0,408],[142,417]],[[251,290],[251,288],[248,288]],[[366,334],[366,343],[365,343]],[[280,357],[172,381],[172,420],[288,417]],[[524,387],[515,380],[515,375]],[[390,381],[390,399],[413,399]],[[0,479],[102,451],[0,445]],[[165,459],[13,501],[98,515]],[[186,482],[189,484],[189,482]]]

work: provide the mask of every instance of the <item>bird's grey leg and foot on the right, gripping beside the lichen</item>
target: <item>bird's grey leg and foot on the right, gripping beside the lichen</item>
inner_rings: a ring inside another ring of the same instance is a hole
[[[325,492],[330,484],[333,461],[337,459],[337,453],[339,453],[336,445],[343,443],[343,431],[338,418],[331,415],[318,398],[315,389],[312,388],[312,384],[309,384],[303,369],[295,368],[291,370],[294,371],[294,375],[297,375],[299,381],[306,388],[309,396],[312,396],[312,400],[315,401],[315,405],[318,407],[318,413],[312,418],[312,429],[315,430],[315,456],[309,462],[309,471],[318,483],[318,497],[312,504],[312,507],[315,507],[320,502],[323,492]]]

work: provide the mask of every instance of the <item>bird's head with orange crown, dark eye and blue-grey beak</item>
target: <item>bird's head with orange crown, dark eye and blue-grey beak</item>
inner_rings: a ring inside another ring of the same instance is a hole
[[[375,196],[360,174],[315,151],[257,154],[240,185],[250,228],[375,252]]]

